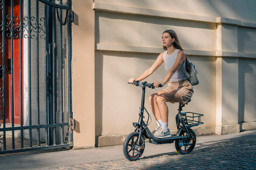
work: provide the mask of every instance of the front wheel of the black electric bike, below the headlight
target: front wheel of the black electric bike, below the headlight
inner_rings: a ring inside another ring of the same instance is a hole
[[[139,132],[132,132],[129,134],[124,141],[123,152],[124,156],[128,160],[137,160],[143,154],[145,149],[145,139],[143,136],[140,138],[139,143]]]

